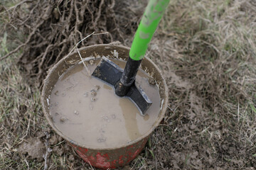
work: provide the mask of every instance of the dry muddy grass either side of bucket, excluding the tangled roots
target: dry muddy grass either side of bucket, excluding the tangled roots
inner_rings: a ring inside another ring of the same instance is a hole
[[[256,168],[255,21],[253,0],[171,1],[148,54],[166,77],[169,111],[125,168]],[[4,56],[15,44],[6,30],[1,35]],[[0,169],[43,169],[39,158],[18,152],[30,137],[55,135],[16,56],[0,62]],[[49,169],[90,169],[61,138],[49,143]]]

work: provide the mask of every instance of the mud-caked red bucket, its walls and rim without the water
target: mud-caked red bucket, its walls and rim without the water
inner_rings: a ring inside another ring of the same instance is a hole
[[[88,47],[80,48],[80,54],[83,59],[86,57],[109,57],[121,60],[127,60],[129,56],[129,47],[124,47],[122,45],[92,45]],[[154,73],[153,78],[159,86],[159,94],[161,97],[161,110],[159,111],[159,116],[152,128],[146,132],[146,134],[133,140],[132,142],[125,143],[121,147],[113,148],[93,148],[86,145],[82,145],[78,142],[73,141],[70,137],[64,135],[58,128],[53,124],[52,117],[50,115],[49,106],[47,98],[50,96],[53,86],[58,81],[60,75],[62,75],[67,69],[72,67],[74,64],[80,62],[80,57],[77,52],[64,57],[55,66],[50,69],[48,76],[44,80],[43,91],[41,95],[41,103],[43,106],[43,113],[48,120],[50,126],[63,137],[68,144],[75,149],[75,152],[80,155],[80,157],[92,166],[100,169],[115,169],[119,166],[124,166],[131,162],[137,155],[142,152],[146,141],[153,132],[153,130],[159,125],[161,120],[164,118],[164,113],[168,105],[168,89],[166,86],[166,81],[161,75],[159,68],[152,62],[148,57],[144,57],[142,60],[142,69],[146,72]],[[85,120],[86,121],[86,120]]]

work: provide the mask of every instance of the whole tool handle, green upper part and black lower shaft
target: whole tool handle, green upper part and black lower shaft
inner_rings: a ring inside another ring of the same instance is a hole
[[[142,62],[147,46],[154,35],[161,17],[164,15],[169,1],[170,0],[149,0],[142,21],[139,23],[139,28],[135,33],[122,77],[114,86],[117,96],[126,96],[132,85],[134,85],[139,65]]]

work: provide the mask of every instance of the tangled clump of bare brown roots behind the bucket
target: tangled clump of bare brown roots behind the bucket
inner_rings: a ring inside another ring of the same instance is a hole
[[[142,10],[122,10],[126,6],[126,2],[114,0],[23,1],[13,9],[10,23],[28,36],[3,58],[22,47],[18,63],[41,85],[46,71],[90,33],[95,35],[78,47],[116,40],[129,43]],[[26,13],[23,8],[27,8]]]

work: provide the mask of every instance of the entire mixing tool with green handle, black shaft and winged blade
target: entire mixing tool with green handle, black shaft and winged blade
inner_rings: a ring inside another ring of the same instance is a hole
[[[114,86],[117,96],[129,97],[137,105],[142,115],[146,114],[146,110],[151,106],[152,102],[146,96],[145,92],[139,86],[135,85],[135,77],[146,53],[148,44],[154,35],[169,1],[149,0],[142,21],[139,23],[139,28],[135,33],[124,70],[107,59],[107,57],[102,57],[102,60],[92,73],[93,77],[102,79]]]

